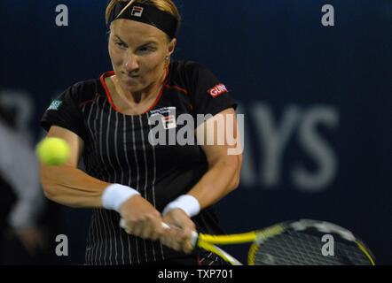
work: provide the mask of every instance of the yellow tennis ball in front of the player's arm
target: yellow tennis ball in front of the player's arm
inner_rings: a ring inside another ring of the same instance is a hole
[[[63,139],[45,138],[36,146],[36,154],[44,164],[56,166],[67,162],[71,147]]]

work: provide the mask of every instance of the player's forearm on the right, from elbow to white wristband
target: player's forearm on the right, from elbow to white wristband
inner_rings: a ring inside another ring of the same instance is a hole
[[[222,161],[212,165],[188,195],[194,196],[204,209],[239,186],[239,160]]]

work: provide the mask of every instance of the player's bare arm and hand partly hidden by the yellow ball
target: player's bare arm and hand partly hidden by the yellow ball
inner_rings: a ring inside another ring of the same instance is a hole
[[[59,137],[71,147],[71,157],[59,166],[41,164],[44,195],[56,203],[79,208],[103,208],[102,195],[110,183],[91,177],[77,168],[83,141],[77,134],[60,126],[51,126],[47,137]],[[156,240],[165,230],[161,213],[140,195],[133,195],[121,206],[122,218],[129,225],[127,233]]]

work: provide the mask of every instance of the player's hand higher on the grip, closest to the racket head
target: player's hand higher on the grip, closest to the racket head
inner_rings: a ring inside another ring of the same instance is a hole
[[[191,235],[196,231],[191,218],[184,212],[184,210],[175,209],[170,210],[164,217],[163,222],[172,226],[170,233],[166,233],[161,237],[161,242],[169,248],[183,250],[184,253],[189,254],[193,247],[191,244]]]

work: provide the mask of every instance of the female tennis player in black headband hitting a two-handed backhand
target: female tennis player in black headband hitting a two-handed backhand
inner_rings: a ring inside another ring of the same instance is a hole
[[[180,25],[172,1],[111,1],[106,23],[113,71],[67,88],[43,115],[47,136],[72,149],[66,164],[41,164],[44,193],[92,208],[85,264],[221,264],[188,239],[223,233],[214,203],[238,187],[242,156],[228,154],[238,144],[226,139],[206,145],[218,128],[204,125],[221,117],[236,137],[236,103],[208,68],[170,59]],[[198,123],[200,114],[213,118]],[[191,127],[194,138],[152,142],[159,126],[168,137]]]

